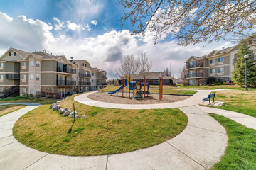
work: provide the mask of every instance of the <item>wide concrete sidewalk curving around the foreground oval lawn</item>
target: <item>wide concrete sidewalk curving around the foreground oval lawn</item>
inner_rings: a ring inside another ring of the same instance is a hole
[[[0,169],[210,169],[219,162],[228,142],[225,129],[216,120],[189,106],[180,108],[188,116],[186,129],[159,145],[95,157],[48,154],[22,145],[12,135],[16,120],[39,106],[26,104],[26,108],[0,118],[0,153],[4,155]]]

